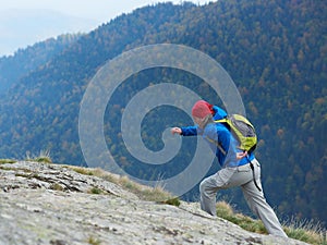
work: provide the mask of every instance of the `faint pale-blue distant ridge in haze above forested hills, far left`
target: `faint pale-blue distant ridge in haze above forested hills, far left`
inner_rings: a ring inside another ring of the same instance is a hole
[[[95,20],[72,16],[48,9],[0,11],[0,57],[13,56],[37,41],[69,33],[86,33],[98,26]]]

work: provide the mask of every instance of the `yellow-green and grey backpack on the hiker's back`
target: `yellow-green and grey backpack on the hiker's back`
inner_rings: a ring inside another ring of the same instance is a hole
[[[241,114],[231,114],[225,119],[216,120],[216,123],[225,124],[239,142],[239,149],[253,152],[256,148],[257,137],[252,123]]]

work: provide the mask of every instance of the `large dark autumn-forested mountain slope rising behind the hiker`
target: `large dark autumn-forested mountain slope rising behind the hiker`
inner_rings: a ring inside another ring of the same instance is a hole
[[[218,1],[204,7],[165,3],[121,15],[81,37],[1,98],[0,156],[21,159],[26,151],[50,149],[53,161],[85,164],[78,145],[78,110],[98,69],[136,47],[180,44],[209,54],[235,82],[259,135],[263,184],[278,213],[327,221],[326,15],[323,1],[310,0]],[[105,117],[108,148],[125,169],[133,160],[116,125],[133,94],[162,79],[179,81],[219,103],[204,83],[190,74],[154,69],[130,77]],[[162,122],[165,118],[147,120],[150,125],[183,121]],[[160,148],[158,135],[158,127],[152,126],[143,140],[150,148]],[[177,161],[183,167],[187,157]],[[146,171],[142,164],[137,168],[137,174],[152,174]],[[155,172],[173,174],[165,167]],[[196,192],[195,187],[185,198]],[[246,210],[240,192],[225,194]]]

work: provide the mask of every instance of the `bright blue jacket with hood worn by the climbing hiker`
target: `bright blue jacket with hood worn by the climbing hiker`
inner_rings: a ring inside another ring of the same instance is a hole
[[[214,120],[220,120],[227,117],[227,113],[221,108],[214,106]],[[246,158],[241,160],[237,159],[237,152],[241,152],[238,149],[238,140],[232,136],[230,131],[222,123],[208,123],[205,128],[195,126],[181,127],[183,136],[202,135],[202,137],[209,144],[210,149],[216,154],[218,162],[221,167],[238,167],[249,163]],[[215,142],[219,143],[226,155],[217,147]],[[254,154],[249,156],[250,160],[254,159]]]

